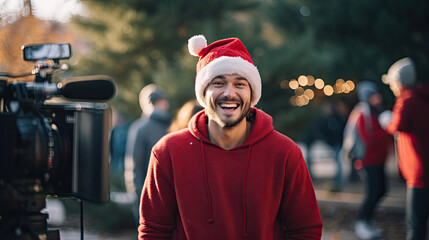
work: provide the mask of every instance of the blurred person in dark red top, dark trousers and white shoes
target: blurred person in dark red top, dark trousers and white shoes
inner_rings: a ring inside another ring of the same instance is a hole
[[[369,80],[359,82],[357,96],[359,103],[347,120],[343,148],[350,145],[350,138],[357,138],[351,142],[360,141],[363,145],[362,153],[348,156],[348,160],[353,163],[352,167],[362,168],[365,184],[365,197],[355,224],[355,233],[360,239],[373,239],[381,237],[383,233],[374,226],[372,219],[386,193],[384,166],[391,152],[392,139],[378,122],[378,116],[383,111],[383,98],[377,85]]]

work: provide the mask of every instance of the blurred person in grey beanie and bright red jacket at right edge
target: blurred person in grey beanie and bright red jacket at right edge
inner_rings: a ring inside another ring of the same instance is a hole
[[[397,139],[399,169],[407,182],[407,239],[427,239],[429,217],[429,84],[416,81],[410,58],[395,62],[385,82],[397,97],[386,130]]]

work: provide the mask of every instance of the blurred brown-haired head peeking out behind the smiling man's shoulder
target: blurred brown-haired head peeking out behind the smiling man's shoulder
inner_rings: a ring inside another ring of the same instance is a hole
[[[189,120],[191,120],[192,116],[203,109],[197,100],[187,101],[177,112],[176,117],[168,128],[168,132],[171,133],[188,128]]]

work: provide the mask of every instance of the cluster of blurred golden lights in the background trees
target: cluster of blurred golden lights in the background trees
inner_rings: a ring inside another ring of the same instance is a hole
[[[289,98],[292,106],[302,107],[310,103],[315,97],[315,91],[322,91],[327,97],[333,94],[347,94],[355,89],[355,83],[352,80],[345,81],[337,79],[333,86],[325,84],[321,78],[315,79],[311,75],[301,75],[297,79],[283,80],[280,82],[280,88],[294,90],[294,95]],[[315,88],[313,90],[312,88]]]

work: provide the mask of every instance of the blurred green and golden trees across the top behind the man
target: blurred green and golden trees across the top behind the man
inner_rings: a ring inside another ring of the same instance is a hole
[[[262,81],[258,107],[273,116],[280,132],[299,135],[308,118],[316,118],[316,93],[307,107],[293,107],[293,90],[280,88],[283,80],[313,75],[333,84],[338,78],[371,79],[380,85],[388,107],[393,95],[380,81],[397,59],[411,56],[420,80],[428,75],[429,3],[424,0],[86,0],[88,13],[72,26],[31,22],[29,15],[2,25],[0,69],[24,68],[19,46],[27,42],[71,41],[72,75],[106,74],[118,87],[110,102],[129,119],[140,116],[138,93],[149,84],[163,87],[171,113],[195,97],[196,57],[187,40],[204,34],[208,43],[239,37],[248,48]],[[25,11],[23,11],[25,12]],[[0,18],[0,23],[4,23]],[[65,34],[71,27],[72,35]],[[32,39],[27,39],[29,37]],[[36,37],[36,36],[44,36]],[[66,37],[67,36],[67,37]],[[18,39],[19,41],[17,41]],[[12,46],[15,44],[16,46]],[[17,51],[10,53],[9,51]],[[17,50],[18,49],[18,50]],[[7,65],[7,67],[6,67]],[[30,68],[28,66],[25,69]],[[344,96],[354,103],[354,93]]]

